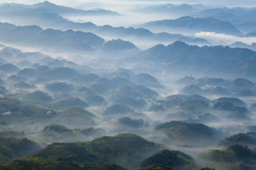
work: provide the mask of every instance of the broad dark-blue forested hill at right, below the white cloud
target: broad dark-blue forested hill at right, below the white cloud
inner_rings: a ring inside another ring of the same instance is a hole
[[[254,76],[256,72],[255,51],[222,45],[199,47],[181,41],[167,46],[158,44],[143,51],[139,60],[154,61],[152,67],[176,72],[220,73],[225,76]]]

